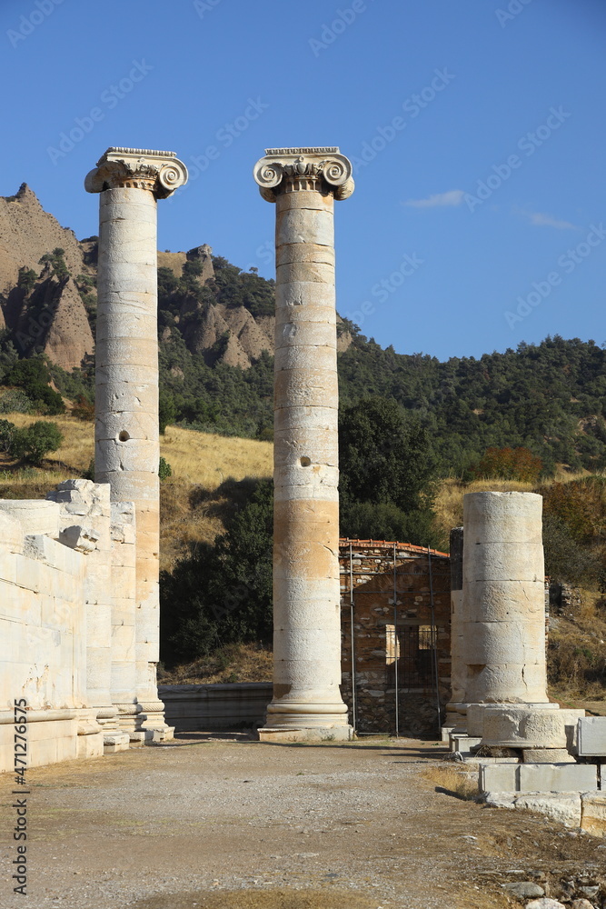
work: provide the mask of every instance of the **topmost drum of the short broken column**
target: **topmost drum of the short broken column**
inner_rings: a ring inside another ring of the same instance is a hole
[[[534,493],[482,492],[463,501],[466,542],[541,544],[542,497]]]

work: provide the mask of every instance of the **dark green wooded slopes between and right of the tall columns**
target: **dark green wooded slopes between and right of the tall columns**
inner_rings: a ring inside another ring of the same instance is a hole
[[[189,309],[181,303],[185,320],[175,323],[166,315],[170,298],[167,303],[161,295],[165,415],[201,429],[270,439],[271,352],[263,349],[242,369],[225,362],[233,343],[227,325],[200,353],[188,342],[188,331],[191,336],[192,324],[208,324],[212,314],[216,321],[211,295],[216,301],[219,294],[224,315],[245,309],[262,324],[269,321],[273,282],[240,272],[224,259],[213,261],[219,287],[208,282],[204,301]],[[606,466],[606,351],[593,341],[555,336],[478,360],[453,357],[441,363],[430,355],[384,350],[347,320],[338,334],[342,405],[374,395],[394,398],[429,429],[443,473],[463,474],[492,446],[527,447],[548,469],[555,463],[592,471]]]

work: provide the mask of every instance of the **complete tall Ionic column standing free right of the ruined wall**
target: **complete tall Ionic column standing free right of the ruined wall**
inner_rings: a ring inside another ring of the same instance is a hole
[[[254,179],[276,205],[273,701],[259,734],[348,739],[333,203],[352,195],[352,165],[338,148],[270,148]]]

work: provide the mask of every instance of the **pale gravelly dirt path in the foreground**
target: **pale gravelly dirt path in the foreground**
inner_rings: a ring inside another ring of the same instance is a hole
[[[3,777],[0,905],[493,909],[510,905],[505,881],[606,875],[606,850],[591,837],[436,792],[431,768],[443,756],[410,740],[313,747],[201,735],[30,771],[26,900],[9,882]]]

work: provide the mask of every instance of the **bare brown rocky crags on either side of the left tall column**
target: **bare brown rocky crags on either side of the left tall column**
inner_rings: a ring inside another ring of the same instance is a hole
[[[209,365],[248,369],[273,349],[272,283],[244,275],[251,286],[234,299],[242,273],[212,253],[208,245],[158,253],[161,341],[183,339]],[[26,184],[0,197],[0,328],[20,355],[44,354],[66,372],[93,355],[96,259],[97,238],[78,241]]]

